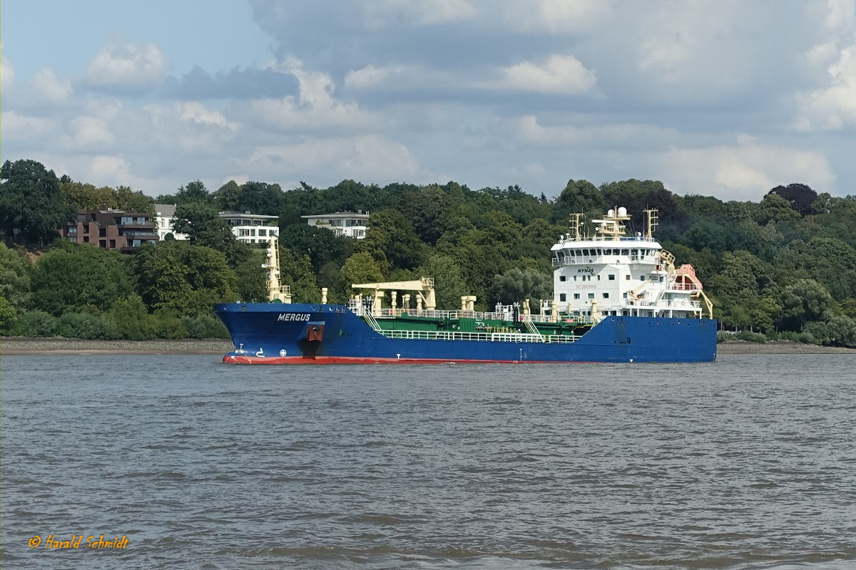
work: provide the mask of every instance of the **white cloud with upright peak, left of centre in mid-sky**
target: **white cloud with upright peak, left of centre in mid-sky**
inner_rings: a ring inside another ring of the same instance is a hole
[[[356,103],[342,103],[334,97],[335,85],[330,75],[305,71],[298,60],[282,64],[283,73],[291,73],[300,86],[298,97],[255,99],[250,109],[259,124],[284,128],[317,128],[321,126],[363,126],[371,115]]]

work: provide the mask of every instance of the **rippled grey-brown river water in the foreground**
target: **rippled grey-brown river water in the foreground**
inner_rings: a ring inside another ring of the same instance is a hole
[[[3,566],[853,568],[854,365],[3,356]]]

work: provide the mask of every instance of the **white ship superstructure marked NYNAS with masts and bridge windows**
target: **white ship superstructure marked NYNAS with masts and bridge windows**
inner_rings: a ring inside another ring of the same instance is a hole
[[[646,231],[625,236],[627,209],[610,209],[594,236],[580,232],[581,214],[571,215],[571,231],[552,247],[554,303],[560,313],[600,320],[608,315],[701,318],[712,312],[693,266],[675,269],[675,256],[653,238],[657,210],[645,210]],[[703,307],[704,302],[704,307]]]

